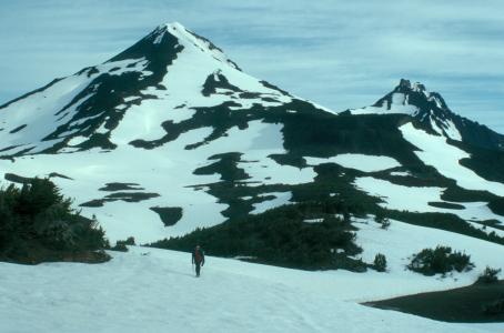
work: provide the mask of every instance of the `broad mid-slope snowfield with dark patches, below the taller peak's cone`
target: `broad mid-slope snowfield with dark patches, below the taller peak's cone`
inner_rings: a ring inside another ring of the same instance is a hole
[[[121,127],[133,127],[130,121],[134,120],[123,121]],[[70,154],[21,157],[16,159],[16,163],[0,160],[0,170],[23,176],[47,176],[51,172],[69,176],[71,180],[54,178],[53,181],[62,189],[62,193],[73,194],[74,205],[82,209],[83,215],[97,216],[112,242],[133,235],[138,242],[147,243],[183,235],[196,228],[212,226],[225,220],[221,212],[228,205],[206,193],[204,185],[218,182],[219,174],[193,173],[198,168],[215,162],[208,160],[214,154],[243,152],[242,162],[238,164],[249,174],[246,183],[250,186],[313,181],[316,175],[313,168],[281,165],[268,158],[270,154],[285,153],[281,130],[280,124],[251,121],[246,131],[233,128],[228,135],[211,144],[187,150],[188,144],[202,142],[212,132],[210,128],[201,128],[183,133],[178,140],[158,148],[154,153],[124,144],[110,152],[93,149]],[[118,140],[118,137],[114,138]],[[131,158],[133,155],[134,159]],[[99,189],[111,182],[138,183],[144,189],[142,192],[160,196],[133,203],[105,202],[98,208],[78,206],[110,194]],[[253,213],[285,204],[291,198],[290,193],[276,196],[275,200],[258,203]],[[152,206],[180,206],[183,209],[182,219],[174,225],[164,226],[159,215],[150,210]]]

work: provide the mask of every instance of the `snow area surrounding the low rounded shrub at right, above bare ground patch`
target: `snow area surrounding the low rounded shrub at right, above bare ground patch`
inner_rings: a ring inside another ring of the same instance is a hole
[[[363,249],[362,260],[364,262],[373,262],[376,253],[385,254],[387,272],[355,274],[352,284],[347,286],[361,289],[360,292],[367,295],[363,295],[366,301],[470,285],[476,281],[486,265],[504,268],[500,258],[501,253],[504,252],[502,245],[395,220],[391,220],[391,225],[383,230],[379,223],[372,221],[372,218],[354,219],[357,221],[354,225],[359,228],[356,242]],[[464,251],[471,255],[471,261],[476,266],[464,273],[453,272],[444,279],[441,278],[441,274],[425,279],[426,276],[422,274],[406,270],[405,266],[411,262],[413,254],[425,248],[437,245]],[[364,284],[365,281],[367,281],[367,285]],[[356,291],[349,291],[349,293],[352,292],[357,293]]]

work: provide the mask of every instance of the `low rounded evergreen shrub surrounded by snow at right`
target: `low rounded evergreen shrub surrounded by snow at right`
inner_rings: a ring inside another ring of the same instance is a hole
[[[437,245],[434,250],[424,249],[413,256],[407,268],[424,275],[446,274],[451,271],[464,272],[474,268],[471,256],[452,252],[450,246]]]

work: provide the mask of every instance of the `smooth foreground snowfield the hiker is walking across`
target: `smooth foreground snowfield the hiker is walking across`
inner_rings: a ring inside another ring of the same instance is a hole
[[[345,301],[342,291],[350,290],[346,283],[356,273],[304,272],[208,258],[202,276],[195,279],[189,253],[133,246],[129,253],[112,255],[112,261],[94,265],[0,263],[0,331],[473,333],[504,329],[435,322]]]

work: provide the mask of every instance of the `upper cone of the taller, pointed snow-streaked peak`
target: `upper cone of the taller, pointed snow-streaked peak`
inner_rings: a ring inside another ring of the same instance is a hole
[[[124,143],[149,149],[162,144],[155,141],[167,134],[163,128],[190,119],[195,108],[290,101],[243,73],[210,41],[179,23],[163,24],[109,61],[0,107],[1,151],[16,157]]]

